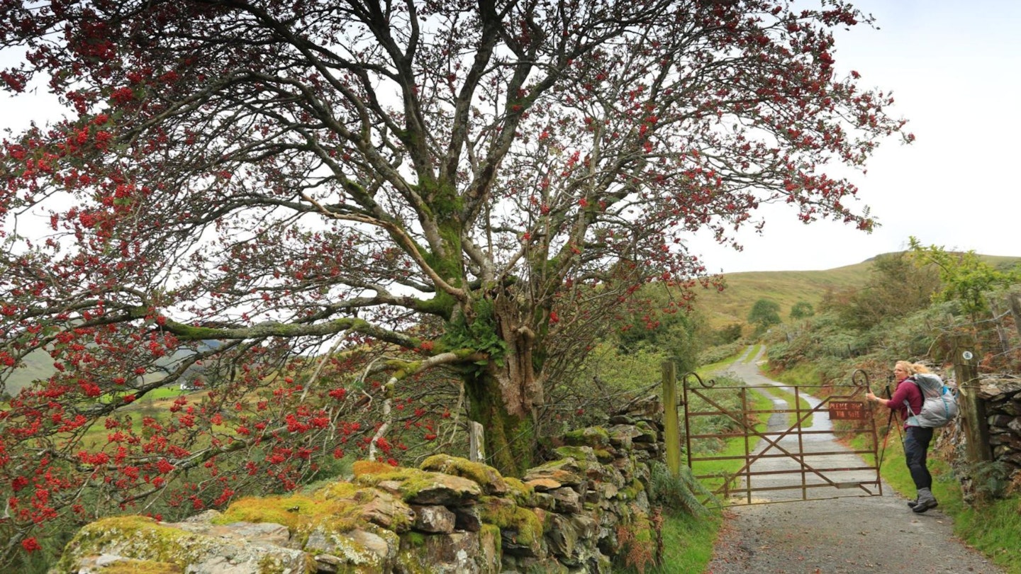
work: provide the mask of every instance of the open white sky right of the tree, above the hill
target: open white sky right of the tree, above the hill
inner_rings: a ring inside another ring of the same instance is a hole
[[[708,236],[689,243],[710,272],[828,270],[924,245],[1021,256],[1016,165],[1021,145],[1021,2],[1015,0],[852,0],[876,17],[837,36],[836,66],[857,69],[862,88],[892,90],[891,114],[909,119],[915,143],[889,140],[854,174],[860,201],[881,227],[808,226],[785,206],[760,210],[763,236],[742,234],[744,250]],[[814,2],[794,2],[794,8]]]

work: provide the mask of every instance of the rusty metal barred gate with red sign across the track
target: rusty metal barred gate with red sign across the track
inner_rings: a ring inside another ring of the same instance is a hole
[[[688,467],[725,506],[882,495],[875,418],[865,400],[868,376],[856,371],[850,380],[816,398],[804,387],[717,386],[688,373],[682,379]],[[750,393],[766,394],[774,408],[756,409]],[[700,431],[720,426],[727,430]],[[865,435],[871,448],[838,442],[850,434]],[[735,442],[743,443],[737,453]],[[863,463],[866,453],[874,465]],[[724,470],[735,461],[736,471]]]

